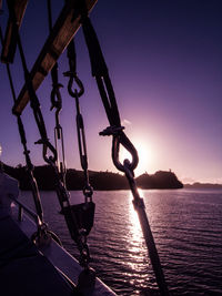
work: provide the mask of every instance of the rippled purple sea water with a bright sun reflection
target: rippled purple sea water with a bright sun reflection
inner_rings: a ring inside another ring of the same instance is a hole
[[[42,192],[46,221],[74,256],[59,203]],[[222,191],[143,191],[153,236],[172,295],[222,295]],[[22,200],[30,201],[30,193]],[[98,276],[118,295],[157,288],[152,266],[128,191],[95,192],[89,244]],[[71,192],[71,202],[82,202]]]

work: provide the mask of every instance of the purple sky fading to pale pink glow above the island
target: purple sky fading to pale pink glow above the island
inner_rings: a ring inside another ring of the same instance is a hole
[[[54,3],[53,3],[54,2]],[[62,2],[62,1],[60,1]],[[6,3],[4,3],[6,4]],[[62,4],[52,1],[53,20]],[[6,29],[8,12],[0,18]],[[99,0],[90,17],[119,104],[122,125],[138,149],[135,175],[172,170],[184,183],[222,183],[222,2],[221,0]],[[46,1],[29,1],[21,27],[29,69],[48,35]],[[99,136],[109,123],[94,79],[81,29],[75,37],[78,73],[85,93],[80,100],[84,118],[89,169],[117,172],[111,139]],[[59,59],[68,167],[80,169],[74,101],[68,95],[65,52]],[[23,85],[17,53],[11,65],[16,92]],[[6,67],[0,65],[0,143],[2,161],[24,164]],[[50,75],[37,94],[50,140],[54,115],[50,112]],[[43,164],[32,111],[22,114],[34,165]],[[125,152],[121,151],[121,157]]]

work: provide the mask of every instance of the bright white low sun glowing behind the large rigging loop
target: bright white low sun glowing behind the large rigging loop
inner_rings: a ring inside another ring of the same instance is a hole
[[[154,161],[154,152],[150,144],[145,143],[145,141],[135,140],[132,141],[133,145],[135,146],[139,155],[139,164],[135,169],[134,173],[135,176],[139,176],[145,172],[150,172],[151,166]],[[132,161],[131,154],[124,149],[120,147],[120,161],[123,163],[123,161],[128,159]]]

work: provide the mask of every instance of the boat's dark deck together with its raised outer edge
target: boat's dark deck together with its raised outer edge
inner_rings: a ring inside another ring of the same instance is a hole
[[[29,239],[33,232],[36,225],[28,216],[17,222],[0,208],[0,295],[82,295],[59,272],[77,284],[82,271],[78,262],[54,241],[39,251]],[[97,278],[90,295],[115,294]]]

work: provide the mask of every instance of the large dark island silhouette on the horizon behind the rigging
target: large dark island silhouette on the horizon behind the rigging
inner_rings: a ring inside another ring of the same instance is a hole
[[[26,166],[17,165],[16,167],[2,163],[3,171],[19,181],[20,190],[30,190],[29,177]],[[40,190],[54,190],[54,174],[49,165],[36,166],[33,171],[34,177]],[[129,190],[129,184],[124,175],[112,172],[89,171],[90,184],[95,191],[114,191]],[[154,174],[144,173],[135,178],[140,188],[182,188],[183,184],[178,180],[176,175],[169,171],[158,171]],[[67,188],[70,191],[80,191],[84,186],[84,176],[82,171],[68,169]]]

